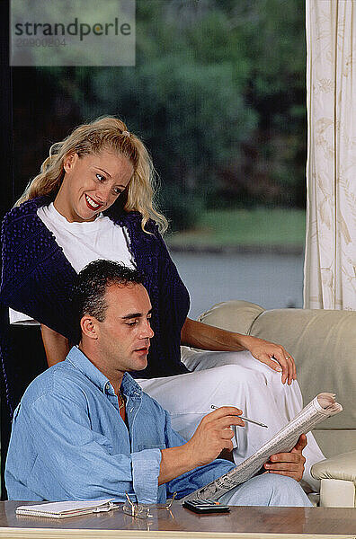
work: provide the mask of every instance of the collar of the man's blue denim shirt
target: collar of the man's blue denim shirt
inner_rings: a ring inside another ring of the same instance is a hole
[[[102,374],[102,372],[96,368],[93,363],[88,359],[82,350],[74,346],[69,350],[66,361],[73,367],[77,368],[86,378],[88,378],[94,385],[99,387],[102,393],[105,393],[107,384],[110,384],[109,379]],[[122,392],[129,395],[140,396],[142,393],[141,387],[138,383],[129,375],[125,373],[122,378]]]

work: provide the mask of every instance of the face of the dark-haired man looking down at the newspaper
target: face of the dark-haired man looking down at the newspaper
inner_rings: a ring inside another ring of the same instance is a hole
[[[147,367],[151,302],[143,285],[112,285],[105,293],[105,320],[95,321],[97,351],[102,365],[112,371],[142,370]]]

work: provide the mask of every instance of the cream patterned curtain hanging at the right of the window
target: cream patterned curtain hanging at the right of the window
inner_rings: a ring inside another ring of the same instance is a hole
[[[304,306],[356,310],[356,0],[307,0]]]

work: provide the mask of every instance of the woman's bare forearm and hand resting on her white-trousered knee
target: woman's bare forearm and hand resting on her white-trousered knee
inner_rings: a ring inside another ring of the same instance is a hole
[[[291,384],[292,380],[297,378],[294,360],[280,344],[258,339],[252,335],[220,330],[187,318],[182,327],[181,342],[182,345],[204,350],[249,350],[254,358],[273,370],[281,371],[282,384],[287,380]]]

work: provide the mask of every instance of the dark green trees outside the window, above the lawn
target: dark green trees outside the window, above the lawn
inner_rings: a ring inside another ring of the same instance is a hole
[[[190,228],[214,208],[304,208],[304,26],[302,0],[137,0],[135,67],[38,69],[83,120],[143,137],[161,208]]]

